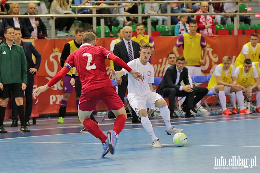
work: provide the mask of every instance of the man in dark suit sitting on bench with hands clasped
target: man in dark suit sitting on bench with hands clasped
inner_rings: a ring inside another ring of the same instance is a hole
[[[179,56],[176,64],[166,70],[163,80],[161,81],[157,93],[169,98],[170,116],[173,116],[175,106],[175,96],[186,96],[182,104],[182,110],[186,112],[185,117],[193,117],[190,110],[197,112],[194,105],[198,103],[207,93],[206,87],[190,86],[188,80],[188,69],[184,67],[185,59]],[[185,86],[181,86],[183,80]],[[196,96],[194,98],[194,96]]]

